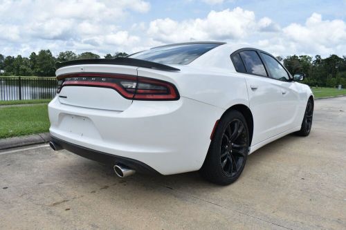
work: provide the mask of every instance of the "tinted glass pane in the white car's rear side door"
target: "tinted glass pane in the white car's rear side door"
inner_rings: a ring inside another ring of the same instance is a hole
[[[257,52],[248,50],[239,52],[239,55],[244,61],[247,73],[267,76],[266,69],[263,66],[260,56],[257,55]]]

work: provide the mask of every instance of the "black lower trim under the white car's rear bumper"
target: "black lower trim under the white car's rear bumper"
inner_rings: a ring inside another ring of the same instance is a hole
[[[96,162],[101,162],[103,164],[108,164],[110,166],[113,166],[115,164],[121,164],[122,166],[127,166],[128,168],[134,169],[136,170],[136,172],[139,173],[160,174],[155,169],[152,169],[152,167],[138,160],[134,160],[127,157],[120,157],[118,155],[112,155],[109,153],[103,153],[100,151],[95,151],[91,148],[85,148],[77,144],[65,142],[64,140],[61,140],[53,136],[52,140],[55,144],[58,144],[63,149],[66,149],[67,151],[70,151],[71,153],[75,153],[82,157],[88,158],[89,160],[95,160]]]

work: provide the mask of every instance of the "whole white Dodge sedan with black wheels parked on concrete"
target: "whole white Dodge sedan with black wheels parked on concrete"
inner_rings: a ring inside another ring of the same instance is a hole
[[[199,170],[230,184],[248,154],[311,130],[313,94],[298,83],[304,75],[256,48],[172,44],[58,63],[56,75],[51,147],[111,164],[120,177]]]

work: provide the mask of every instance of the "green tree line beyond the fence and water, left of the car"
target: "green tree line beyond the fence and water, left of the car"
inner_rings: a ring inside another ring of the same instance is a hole
[[[116,52],[114,55],[107,54],[104,58],[113,59],[125,56],[127,56],[126,52]],[[78,55],[73,51],[60,52],[57,57],[54,57],[51,50],[41,50],[38,54],[32,52],[29,57],[21,55],[4,57],[0,54],[0,70],[3,70],[0,75],[51,77],[55,76],[55,62],[57,61],[99,58],[100,55],[93,52],[82,52]]]

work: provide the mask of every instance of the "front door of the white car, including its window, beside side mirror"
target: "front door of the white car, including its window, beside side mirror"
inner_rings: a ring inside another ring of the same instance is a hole
[[[273,79],[272,84],[280,88],[280,113],[279,116],[282,120],[278,124],[278,132],[283,133],[289,131],[291,128],[297,126],[295,120],[299,113],[299,86],[291,81],[289,72],[282,66],[280,61],[277,61],[273,56],[267,52],[260,51],[264,65],[268,70],[269,77]]]

